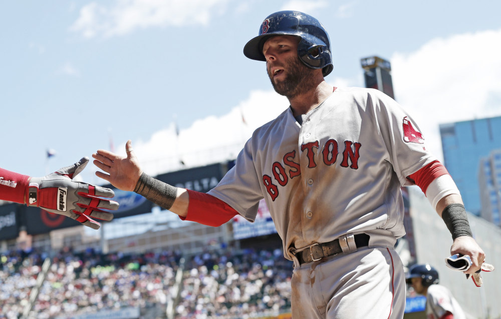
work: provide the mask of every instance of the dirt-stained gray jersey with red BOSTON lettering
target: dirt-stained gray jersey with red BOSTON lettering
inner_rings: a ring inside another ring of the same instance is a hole
[[[403,236],[402,185],[436,160],[417,125],[373,89],[336,89],[300,125],[290,108],[258,128],[209,194],[253,221],[266,199],[286,258],[349,233],[370,247]]]

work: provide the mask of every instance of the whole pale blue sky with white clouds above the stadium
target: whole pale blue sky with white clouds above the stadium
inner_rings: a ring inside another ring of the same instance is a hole
[[[361,58],[390,61],[439,159],[440,123],[501,116],[497,1],[2,2],[0,167],[43,176],[97,149],[125,155],[128,139],[151,175],[233,159],[289,106],[242,53],[280,10],[324,25],[333,86],[363,87]],[[82,178],[104,184],[96,170]]]

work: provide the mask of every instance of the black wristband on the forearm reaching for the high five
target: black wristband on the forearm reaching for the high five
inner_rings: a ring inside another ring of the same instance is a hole
[[[137,181],[136,188],[134,188],[134,192],[144,196],[162,208],[170,209],[174,200],[176,200],[177,187],[154,179],[146,173],[142,173]]]

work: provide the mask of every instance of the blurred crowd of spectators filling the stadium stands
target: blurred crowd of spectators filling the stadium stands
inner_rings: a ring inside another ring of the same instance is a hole
[[[47,257],[37,251],[0,254],[0,318],[21,317]],[[291,306],[292,262],[281,249],[227,248],[187,257],[178,294],[173,287],[181,254],[175,251],[123,255],[64,249],[50,260],[30,318],[123,307],[155,308],[154,317],[163,318],[169,302],[180,319],[252,318]]]

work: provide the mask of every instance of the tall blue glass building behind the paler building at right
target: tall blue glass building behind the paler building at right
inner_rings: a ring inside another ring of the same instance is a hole
[[[501,149],[501,117],[440,125],[444,165],[461,192],[467,211],[481,210],[478,167],[483,157]]]

